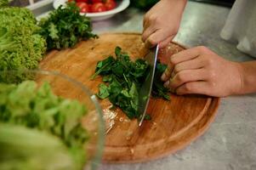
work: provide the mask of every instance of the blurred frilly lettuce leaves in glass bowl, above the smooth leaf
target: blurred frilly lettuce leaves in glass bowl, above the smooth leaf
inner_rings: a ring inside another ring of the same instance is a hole
[[[88,141],[88,132],[82,128],[81,118],[86,112],[86,107],[80,104],[77,100],[62,99],[53,94],[48,82],[44,82],[39,88],[37,88],[37,83],[32,81],[21,82],[18,85],[0,83],[0,123],[2,122],[4,124],[15,126],[19,125],[27,127],[28,129],[37,129],[38,133],[39,131],[43,131],[44,133],[51,134],[56,139],[60,139],[62,144],[65,144],[66,150],[69,151],[72,161],[74,161],[74,165],[76,166],[75,169],[82,169],[82,165],[85,161],[85,155],[82,148],[83,144]],[[34,133],[36,133],[36,131],[34,131]],[[21,134],[17,134],[17,136],[13,135],[12,139],[20,141],[20,135]],[[35,136],[40,136],[40,134],[35,134]],[[30,139],[31,137],[25,135],[24,138]],[[45,139],[43,140],[44,144],[52,144],[51,140],[53,139],[48,140],[48,138],[43,135],[42,138],[39,137],[32,140],[35,143],[39,143],[38,145],[34,145],[36,146],[35,148],[30,144],[30,141],[27,141],[27,144],[29,145],[26,145],[26,140],[22,139],[26,148],[29,148],[28,150],[30,150],[28,153],[22,153],[29,155],[30,153],[39,151],[36,150],[37,147],[45,148],[46,145],[43,146],[42,141],[40,141],[41,139]],[[56,144],[57,143],[58,142],[56,141]],[[4,144],[2,144],[3,139],[0,138],[0,150],[3,150]],[[51,146],[54,147],[54,145],[50,145],[49,147]],[[11,153],[20,153],[20,150],[24,150],[24,148],[14,146],[8,150],[12,150],[13,152]],[[58,150],[53,150],[48,150],[48,156],[55,156],[52,155],[52,152]],[[1,153],[3,152],[1,151]],[[41,152],[37,152],[37,154],[40,155]],[[3,156],[0,156],[0,158],[1,165],[1,163],[3,163]],[[8,159],[6,156],[5,158]],[[10,156],[9,159],[14,161],[15,158],[17,159],[17,157]],[[15,166],[19,165],[21,161],[26,160],[26,158],[30,160],[30,157],[24,157],[24,159],[20,160],[17,159],[17,164],[15,164]],[[33,162],[27,163],[31,165]],[[42,169],[44,164],[39,164],[37,166],[37,168],[33,169]],[[24,169],[26,168],[24,167]]]

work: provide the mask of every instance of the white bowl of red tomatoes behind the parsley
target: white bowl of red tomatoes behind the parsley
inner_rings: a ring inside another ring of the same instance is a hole
[[[80,14],[91,20],[106,20],[128,8],[129,0],[54,0],[54,8],[65,6],[67,1],[75,1]]]

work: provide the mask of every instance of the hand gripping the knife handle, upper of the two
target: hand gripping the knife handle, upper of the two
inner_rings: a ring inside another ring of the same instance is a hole
[[[148,48],[165,48],[179,30],[186,0],[161,0],[144,17],[142,40]]]

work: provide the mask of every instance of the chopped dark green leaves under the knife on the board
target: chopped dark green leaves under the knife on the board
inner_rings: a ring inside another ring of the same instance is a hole
[[[116,58],[109,56],[96,65],[95,74],[91,78],[100,75],[105,82],[100,83],[97,96],[100,99],[108,98],[112,105],[120,107],[130,119],[139,118],[139,89],[150,72],[149,65],[144,59],[136,59],[133,62],[119,47],[115,49],[115,54]],[[163,87],[160,79],[165,69],[166,65],[157,63],[152,94],[169,100],[168,88]],[[146,117],[150,119],[149,116]]]

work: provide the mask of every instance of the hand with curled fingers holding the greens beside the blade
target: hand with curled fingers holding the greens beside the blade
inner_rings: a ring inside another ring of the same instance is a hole
[[[223,59],[208,48],[196,47],[174,54],[162,81],[177,94],[224,97],[244,93],[242,70],[241,64]]]

